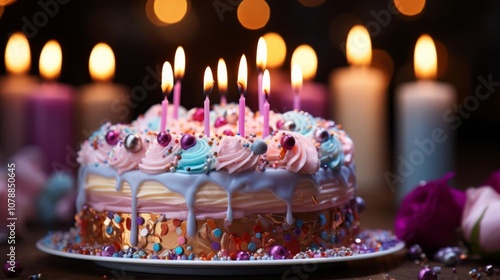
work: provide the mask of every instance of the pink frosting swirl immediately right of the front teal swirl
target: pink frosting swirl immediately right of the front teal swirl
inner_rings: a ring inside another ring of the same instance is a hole
[[[229,174],[256,169],[259,156],[252,152],[252,143],[241,136],[226,136],[217,146],[215,169],[226,169]]]

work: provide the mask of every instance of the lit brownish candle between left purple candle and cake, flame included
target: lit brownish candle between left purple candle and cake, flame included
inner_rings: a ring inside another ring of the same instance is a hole
[[[84,140],[103,123],[124,123],[131,119],[126,105],[129,90],[112,82],[115,75],[115,55],[111,47],[98,43],[89,57],[92,83],[80,88],[77,95],[77,139]]]

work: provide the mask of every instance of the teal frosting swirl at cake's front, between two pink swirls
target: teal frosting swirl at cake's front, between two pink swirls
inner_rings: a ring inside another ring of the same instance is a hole
[[[196,138],[196,144],[193,147],[182,150],[181,159],[177,164],[177,172],[193,174],[211,170],[215,159],[212,146],[208,144],[208,141],[207,138]]]

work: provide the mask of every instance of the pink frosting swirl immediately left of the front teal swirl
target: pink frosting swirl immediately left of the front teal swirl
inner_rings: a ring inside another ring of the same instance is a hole
[[[166,172],[177,164],[177,154],[181,152],[180,137],[172,135],[170,143],[163,147],[155,140],[149,145],[139,169],[148,174]]]

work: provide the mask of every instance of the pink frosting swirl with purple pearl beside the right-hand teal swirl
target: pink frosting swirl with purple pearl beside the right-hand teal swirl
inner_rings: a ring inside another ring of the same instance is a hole
[[[285,150],[284,157],[280,158],[283,150],[280,141],[284,134],[290,134],[295,138],[295,146],[291,150]],[[273,167],[300,174],[314,174],[319,169],[316,147],[310,139],[296,132],[278,131],[269,141],[267,160]]]

